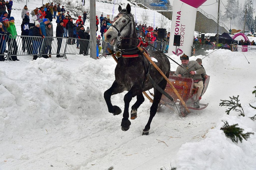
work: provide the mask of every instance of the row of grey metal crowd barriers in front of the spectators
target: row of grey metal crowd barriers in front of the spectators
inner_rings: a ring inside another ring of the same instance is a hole
[[[4,59],[11,60],[14,56],[34,56],[46,57],[46,55],[59,55],[66,57],[67,54],[90,55],[90,41],[79,38],[64,38],[64,37],[37,37],[16,35],[12,38],[11,35],[0,34],[0,56]],[[103,40],[96,40],[99,48],[99,55],[106,57],[109,55],[107,48],[113,50],[115,46],[106,43]],[[168,42],[148,42],[152,46],[147,46],[146,50],[161,50],[166,52]],[[155,48],[156,49],[155,49]]]

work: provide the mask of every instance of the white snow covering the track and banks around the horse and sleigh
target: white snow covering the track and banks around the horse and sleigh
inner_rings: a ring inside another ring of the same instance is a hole
[[[19,25],[21,11],[15,11]],[[148,136],[142,136],[151,106],[147,99],[127,132],[120,128],[122,114],[108,112],[103,93],[114,81],[112,58],[68,55],[67,60],[31,61],[23,56],[0,62],[0,169],[255,170],[255,135],[235,144],[220,130],[224,120],[256,132],[256,121],[248,118],[256,113],[248,105],[256,106],[255,56],[219,49],[191,57],[203,59],[211,76],[201,100],[209,106],[185,118],[175,110],[158,112]],[[180,63],[179,57],[170,57]],[[171,62],[171,69],[176,67]],[[122,110],[125,93],[112,96]],[[227,115],[227,108],[219,106],[233,95],[240,95],[245,117]]]

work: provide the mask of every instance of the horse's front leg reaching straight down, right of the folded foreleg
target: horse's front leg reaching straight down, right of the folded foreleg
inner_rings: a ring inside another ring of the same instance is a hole
[[[123,131],[126,131],[130,128],[131,122],[129,121],[129,105],[131,102],[132,97],[136,96],[137,94],[141,94],[142,89],[139,88],[137,85],[133,85],[131,90],[126,93],[124,97],[124,102],[125,102],[125,108],[124,108],[124,113],[123,113],[123,119],[121,123],[121,129]]]

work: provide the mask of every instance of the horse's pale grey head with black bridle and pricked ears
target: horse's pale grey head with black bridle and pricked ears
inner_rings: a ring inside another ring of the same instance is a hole
[[[105,42],[110,42],[110,45],[116,45],[118,37],[132,37],[135,31],[130,4],[127,4],[126,9],[122,9],[119,5],[118,11],[119,14],[114,18],[108,31],[104,33]]]

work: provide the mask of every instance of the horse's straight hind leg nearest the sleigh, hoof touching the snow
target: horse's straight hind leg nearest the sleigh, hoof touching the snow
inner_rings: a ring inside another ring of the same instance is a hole
[[[158,86],[164,90],[166,87],[166,84],[167,84],[167,81],[165,79],[163,79],[158,84]],[[142,135],[148,135],[149,130],[150,130],[150,124],[151,124],[154,116],[156,115],[157,107],[158,107],[161,97],[162,97],[162,93],[154,88],[154,99],[153,99],[153,104],[150,108],[150,118],[148,119],[148,122],[147,122],[145,128],[143,129]]]

